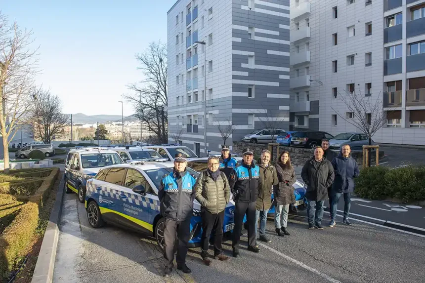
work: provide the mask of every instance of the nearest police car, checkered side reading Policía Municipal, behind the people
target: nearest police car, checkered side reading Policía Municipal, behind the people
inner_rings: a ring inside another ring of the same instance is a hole
[[[160,213],[158,188],[165,174],[172,171],[173,162],[130,162],[99,170],[87,181],[85,208],[93,228],[105,223],[141,232],[156,239],[164,249],[164,218]],[[188,173],[199,173],[187,168]],[[234,227],[234,203],[225,208],[223,237],[229,238]],[[194,201],[190,222],[189,246],[201,243],[201,205]]]

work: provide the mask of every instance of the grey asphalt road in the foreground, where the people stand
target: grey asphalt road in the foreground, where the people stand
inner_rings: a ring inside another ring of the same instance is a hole
[[[272,243],[260,243],[260,253],[247,251],[244,242],[239,258],[227,263],[213,260],[207,267],[200,249],[191,249],[187,265],[192,274],[174,270],[165,280],[155,242],[112,226],[91,228],[84,205],[75,194],[67,194],[53,282],[424,282],[425,238],[352,222],[351,227],[338,222],[323,231],[308,230],[305,214],[291,215],[291,236],[279,238],[269,220]],[[224,244],[228,255],[230,245]]]

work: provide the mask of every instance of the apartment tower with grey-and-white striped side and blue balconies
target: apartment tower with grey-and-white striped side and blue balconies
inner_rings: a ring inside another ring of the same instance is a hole
[[[212,153],[229,123],[229,145],[264,121],[289,128],[289,10],[289,0],[177,0],[168,11],[170,142],[177,133],[203,156],[205,127]]]

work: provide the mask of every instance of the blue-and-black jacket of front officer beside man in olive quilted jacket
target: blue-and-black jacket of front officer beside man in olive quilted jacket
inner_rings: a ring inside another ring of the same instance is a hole
[[[229,177],[229,185],[236,202],[255,202],[258,198],[260,168],[251,163],[242,164],[233,169]]]

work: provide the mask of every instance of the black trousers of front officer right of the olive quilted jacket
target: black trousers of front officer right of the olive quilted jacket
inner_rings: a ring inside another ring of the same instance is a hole
[[[248,245],[255,246],[255,202],[236,202],[235,203],[235,228],[233,229],[233,248],[239,248],[241,239],[242,221],[247,214],[248,225]]]

